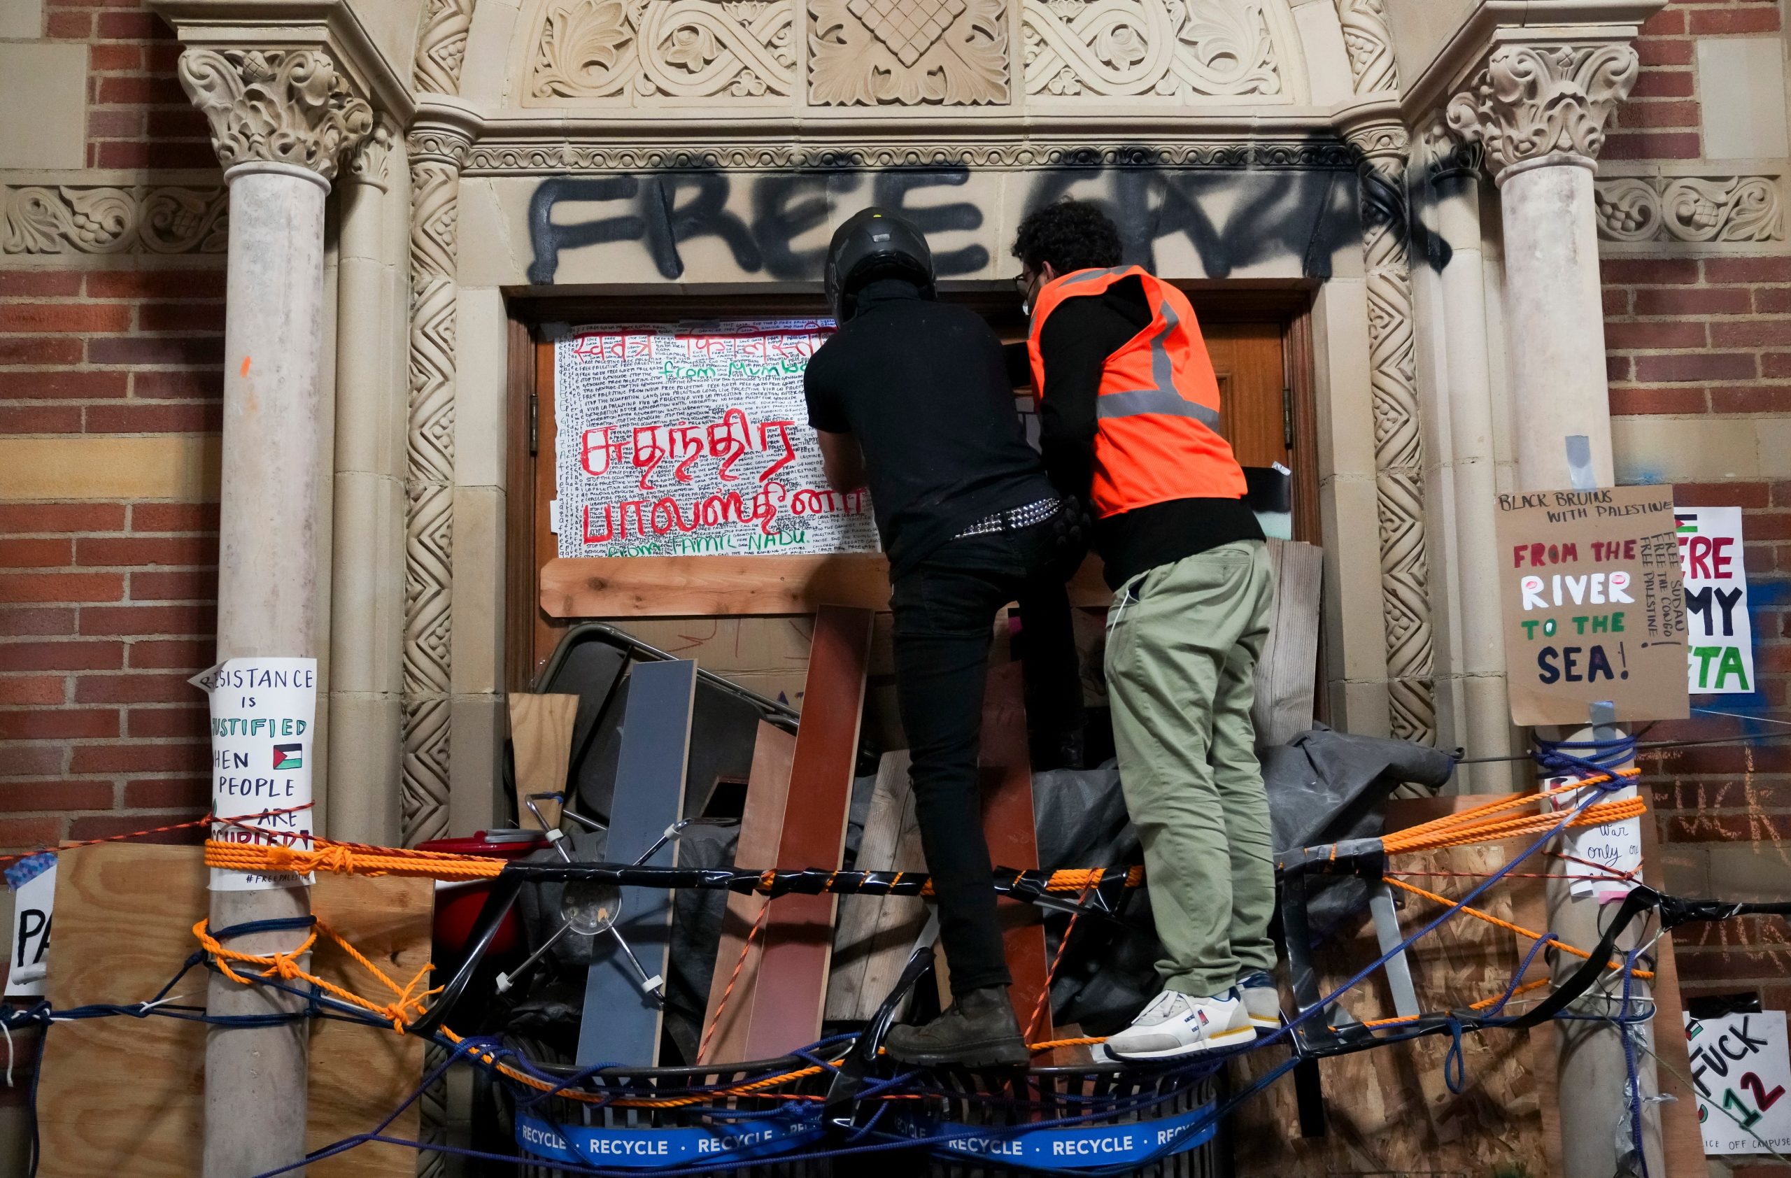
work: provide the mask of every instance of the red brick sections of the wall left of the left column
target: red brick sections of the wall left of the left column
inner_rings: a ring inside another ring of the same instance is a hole
[[[48,0],[43,32],[90,45],[88,166],[217,175],[159,18]],[[217,507],[95,498],[88,482],[219,430],[222,329],[217,254],[0,256],[0,437],[88,442],[66,499],[0,503],[4,850],[206,807],[204,707],[184,680],[213,653]]]

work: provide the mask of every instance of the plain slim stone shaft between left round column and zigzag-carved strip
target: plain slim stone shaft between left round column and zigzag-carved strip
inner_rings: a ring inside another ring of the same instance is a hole
[[[399,827],[405,609],[403,140],[374,124],[342,177],[337,254],[335,519],[330,628],[331,838]]]

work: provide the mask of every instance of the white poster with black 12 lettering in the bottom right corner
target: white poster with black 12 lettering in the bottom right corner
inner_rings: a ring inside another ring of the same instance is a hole
[[[1685,1017],[1685,1051],[1698,1085],[1703,1151],[1791,1149],[1791,1058],[1786,1012]],[[1737,1124],[1739,1121],[1739,1124]],[[1762,1144],[1764,1142],[1764,1144]]]

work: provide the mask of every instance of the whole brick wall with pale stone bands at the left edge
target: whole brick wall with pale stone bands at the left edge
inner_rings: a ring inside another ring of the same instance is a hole
[[[224,188],[159,18],[134,0],[5,7],[0,109],[54,131],[0,140],[0,849],[14,850],[208,804],[186,677],[215,641]]]

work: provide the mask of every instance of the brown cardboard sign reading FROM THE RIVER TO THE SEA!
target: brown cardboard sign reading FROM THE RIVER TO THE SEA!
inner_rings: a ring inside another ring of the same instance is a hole
[[[1497,519],[1512,721],[1687,716],[1673,487],[1501,494]]]

